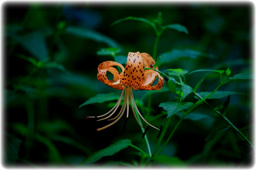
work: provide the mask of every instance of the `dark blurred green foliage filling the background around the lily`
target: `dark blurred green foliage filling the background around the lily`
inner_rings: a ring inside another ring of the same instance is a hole
[[[252,72],[252,7],[251,2],[4,2],[4,164],[78,166],[84,161],[83,166],[86,162],[99,167],[144,166],[145,155],[131,147],[148,153],[133,117],[124,132],[124,119],[96,132],[105,123],[86,121],[86,117],[109,111],[111,103],[101,102],[118,99],[115,94],[120,93],[98,81],[98,65],[108,60],[125,64],[130,51],[153,56],[156,35],[152,23],[171,28],[159,39],[159,70],[186,84],[179,89],[170,81],[167,87],[173,93],[166,87],[134,92],[145,119],[160,126],[166,124],[168,115],[170,133],[182,117],[180,111],[196,103],[193,88],[205,97],[219,85],[223,73],[232,81],[207,102],[215,111],[225,109],[226,117],[252,140],[252,82],[248,80],[252,79],[248,73]],[[113,24],[127,17],[132,18]],[[195,73],[187,74],[192,71]],[[205,71],[210,72],[206,75]],[[112,99],[100,97],[102,101],[98,101],[96,95],[102,93],[112,94]],[[176,102],[177,94],[183,104]],[[96,99],[91,98],[94,96]],[[164,111],[162,107],[170,107],[164,103],[170,102],[171,110]],[[186,115],[152,166],[252,165],[252,148],[213,109],[202,105]],[[151,149],[158,142],[157,133],[147,132]]]

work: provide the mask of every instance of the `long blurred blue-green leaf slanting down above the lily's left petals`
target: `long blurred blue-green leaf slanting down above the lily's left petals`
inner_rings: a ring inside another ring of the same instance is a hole
[[[90,40],[94,40],[96,42],[102,42],[106,43],[110,47],[118,47],[118,43],[116,43],[111,38],[108,38],[107,36],[104,36],[98,32],[95,32],[93,30],[88,30],[86,28],[82,27],[75,27],[75,26],[68,26],[66,28],[66,33],[72,34],[78,37],[87,38]]]

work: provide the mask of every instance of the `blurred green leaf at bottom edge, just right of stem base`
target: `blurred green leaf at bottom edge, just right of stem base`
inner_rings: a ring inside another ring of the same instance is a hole
[[[186,166],[186,163],[182,160],[180,160],[178,157],[168,157],[165,155],[159,155],[156,157],[156,162],[160,163],[160,164],[164,164],[164,165],[168,165],[168,166]]]

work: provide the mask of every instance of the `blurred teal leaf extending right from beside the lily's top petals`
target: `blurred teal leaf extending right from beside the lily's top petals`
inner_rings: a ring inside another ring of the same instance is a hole
[[[158,66],[166,63],[171,63],[174,60],[178,60],[180,58],[191,58],[191,59],[196,59],[199,56],[203,57],[215,57],[212,54],[206,54],[206,53],[201,53],[199,51],[193,50],[193,49],[173,49],[172,51],[162,53],[160,54],[161,59],[158,62]]]

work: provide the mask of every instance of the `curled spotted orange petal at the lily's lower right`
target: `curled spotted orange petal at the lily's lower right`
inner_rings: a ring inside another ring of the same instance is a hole
[[[161,77],[160,74],[154,70],[146,70],[145,71],[146,76],[150,75],[150,74],[152,75],[152,73],[156,74],[156,76],[158,75],[158,83],[153,86],[151,86],[151,85],[154,83],[154,81],[150,82],[148,85],[142,84],[136,90],[160,90],[160,89],[162,89],[162,87],[164,86],[164,78]],[[156,76],[154,77],[154,79],[156,79]]]

